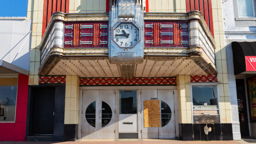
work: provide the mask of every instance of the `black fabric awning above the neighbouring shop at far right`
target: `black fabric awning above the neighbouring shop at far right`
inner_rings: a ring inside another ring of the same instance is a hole
[[[256,42],[232,42],[234,74],[245,72],[245,56],[256,56]]]

